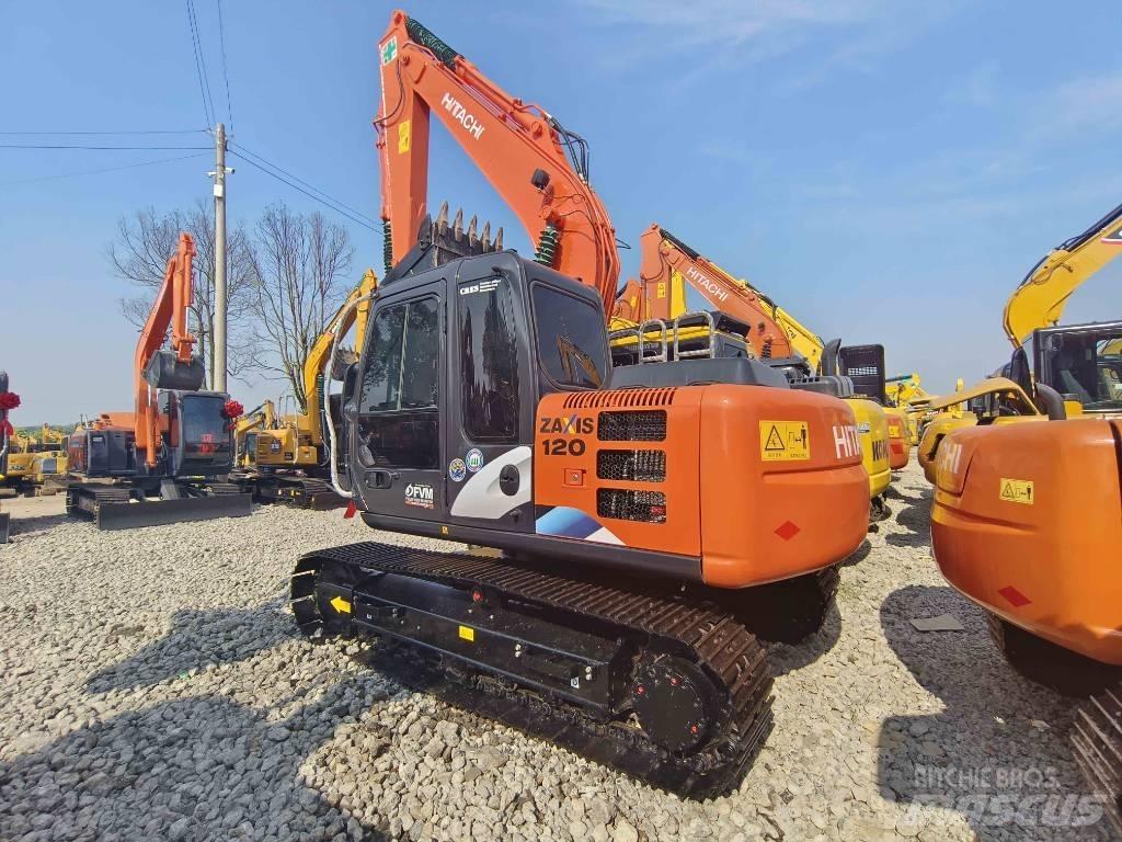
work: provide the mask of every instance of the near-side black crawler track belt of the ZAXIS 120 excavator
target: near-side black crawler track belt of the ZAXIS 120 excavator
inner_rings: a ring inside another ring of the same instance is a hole
[[[533,733],[541,734],[545,730],[546,739],[594,760],[617,766],[654,786],[692,798],[727,793],[739,785],[771,731],[772,678],[766,653],[755,637],[732,614],[710,603],[692,603],[668,595],[665,583],[638,580],[634,587],[629,585],[631,589],[622,589],[596,580],[505,564],[500,559],[366,542],[304,556],[293,577],[294,593],[314,593],[306,586],[301,588],[296,579],[302,575],[318,575],[324,561],[461,587],[481,584],[518,600],[626,626],[637,632],[636,637],[661,639],[674,649],[688,648],[697,661],[708,668],[718,693],[724,692],[726,704],[714,739],[684,757],[656,747],[640,729],[597,722],[579,705],[546,698],[524,687],[506,686],[504,689],[502,683],[481,676],[454,676],[461,687],[467,678],[477,692],[502,693],[507,705],[528,706],[533,716],[505,716],[502,712],[496,713],[495,705],[487,705],[487,713]],[[615,580],[618,582],[618,577]],[[295,603],[298,602],[294,600],[293,606],[297,616],[301,610]],[[305,623],[304,631],[313,634],[315,625]],[[431,688],[425,686],[423,689]],[[465,707],[473,706],[452,701]],[[564,722],[579,723],[581,734],[559,739],[562,734],[558,723]],[[540,724],[543,727],[539,727]],[[616,743],[623,740],[631,750],[605,745],[606,740]]]

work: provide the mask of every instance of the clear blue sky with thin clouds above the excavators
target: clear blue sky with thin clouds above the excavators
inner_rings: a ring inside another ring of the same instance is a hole
[[[214,0],[195,0],[215,107],[230,122]],[[223,4],[233,139],[369,217],[376,43],[390,4]],[[939,391],[1009,356],[1002,305],[1048,248],[1122,201],[1122,53],[1102,2],[572,0],[427,2],[412,15],[512,94],[591,145],[620,238],[657,221],[747,276],[824,337],[881,341],[889,368]],[[183,3],[38,3],[0,29],[0,131],[204,125]],[[435,121],[434,121],[435,126]],[[430,201],[512,214],[435,131]],[[205,135],[0,143],[206,145]],[[0,148],[0,366],[17,422],[126,409],[136,331],[105,245],[138,208],[206,199],[210,157],[27,181],[191,150]],[[278,199],[318,205],[248,166],[231,219]],[[330,211],[325,211],[330,213]],[[347,222],[353,276],[380,237]],[[511,236],[514,235],[514,236]],[[625,276],[637,251],[623,251]],[[1119,262],[1122,264],[1122,262]],[[1122,317],[1107,268],[1065,321]],[[232,384],[247,405],[276,382]]]

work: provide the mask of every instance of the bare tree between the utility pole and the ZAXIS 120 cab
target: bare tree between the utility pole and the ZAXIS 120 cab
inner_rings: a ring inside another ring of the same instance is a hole
[[[353,248],[347,229],[320,213],[293,213],[279,202],[266,208],[255,229],[252,306],[258,365],[283,376],[303,412],[304,364],[324,324],[347,295],[343,275]]]

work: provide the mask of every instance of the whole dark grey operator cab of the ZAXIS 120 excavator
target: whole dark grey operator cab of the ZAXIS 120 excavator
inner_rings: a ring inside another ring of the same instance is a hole
[[[514,251],[390,275],[344,397],[367,522],[532,532],[537,403],[606,387],[608,360],[599,294]]]

